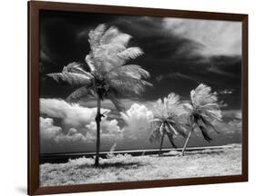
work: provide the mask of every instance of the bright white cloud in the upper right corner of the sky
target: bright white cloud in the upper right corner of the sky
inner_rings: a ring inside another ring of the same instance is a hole
[[[201,45],[194,48],[197,54],[241,55],[241,22],[164,18],[163,27]]]

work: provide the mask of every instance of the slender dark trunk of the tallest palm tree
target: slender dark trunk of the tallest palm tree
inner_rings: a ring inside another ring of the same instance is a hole
[[[97,97],[97,115],[95,117],[95,121],[96,121],[96,125],[97,125],[97,142],[96,142],[95,166],[98,167],[99,147],[100,147],[100,121],[101,121],[100,98],[99,97]]]

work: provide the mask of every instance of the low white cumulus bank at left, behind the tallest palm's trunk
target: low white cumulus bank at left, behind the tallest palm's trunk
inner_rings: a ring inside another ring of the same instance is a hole
[[[102,141],[115,141],[120,137],[120,127],[116,119],[108,120],[110,110],[101,109],[106,117],[100,123]],[[77,103],[67,103],[59,99],[40,99],[40,113],[51,118],[42,118],[40,132],[44,134],[42,139],[51,140],[56,143],[72,142],[95,142],[97,108],[83,107]],[[61,119],[62,127],[55,126],[52,118]],[[47,123],[46,123],[47,122]],[[67,146],[68,148],[68,146]]]

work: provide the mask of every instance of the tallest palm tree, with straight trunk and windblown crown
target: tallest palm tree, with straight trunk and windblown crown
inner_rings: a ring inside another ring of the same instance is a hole
[[[63,68],[62,73],[50,73],[50,77],[57,82],[67,82],[76,86],[77,90],[67,97],[67,101],[74,101],[87,95],[97,99],[97,144],[95,166],[98,166],[100,147],[100,121],[104,113],[100,113],[101,101],[109,99],[121,111],[123,106],[118,98],[138,95],[145,91],[145,86],[151,85],[143,78],[149,73],[136,64],[127,64],[143,52],[138,47],[128,47],[131,38],[123,34],[116,27],[106,28],[98,25],[88,34],[90,53],[86,56],[89,72],[83,64],[71,63]]]

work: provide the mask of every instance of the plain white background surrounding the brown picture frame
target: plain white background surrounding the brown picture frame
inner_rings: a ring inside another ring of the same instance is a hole
[[[52,0],[54,1],[54,0]],[[249,14],[249,91],[250,91],[250,182],[132,191],[87,193],[87,196],[128,195],[251,195],[255,192],[255,109],[256,94],[256,6],[251,0],[66,0],[102,5],[129,5],[183,10],[200,10]],[[0,11],[0,195],[26,193],[26,0],[1,1]],[[253,102],[251,102],[253,101]],[[77,195],[82,195],[77,194]],[[84,193],[85,194],[85,193]]]

